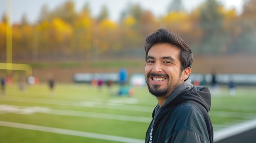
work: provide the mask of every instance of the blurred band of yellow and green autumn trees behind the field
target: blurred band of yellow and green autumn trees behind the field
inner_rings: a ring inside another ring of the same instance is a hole
[[[225,9],[216,0],[206,0],[191,12],[168,8],[155,17],[138,4],[130,4],[119,22],[108,18],[102,7],[92,17],[89,4],[76,12],[67,1],[49,11],[41,9],[38,22],[26,16],[12,25],[13,59],[95,59],[99,57],[144,57],[144,40],[159,28],[170,29],[193,48],[194,54],[225,55],[256,53],[256,0],[248,0],[243,12]],[[0,60],[6,59],[5,15],[0,22]],[[36,58],[35,58],[36,57]]]

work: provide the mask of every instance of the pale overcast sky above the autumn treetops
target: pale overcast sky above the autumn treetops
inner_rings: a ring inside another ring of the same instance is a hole
[[[12,22],[19,22],[22,15],[26,14],[29,22],[38,20],[38,15],[44,4],[47,4],[49,9],[55,9],[66,0],[11,0]],[[198,6],[204,0],[182,0],[187,11]],[[237,13],[242,11],[243,0],[219,0],[227,9],[236,8]],[[167,6],[171,0],[73,0],[76,6],[76,11],[80,11],[86,2],[89,2],[92,16],[99,14],[101,7],[106,5],[109,11],[110,19],[117,21],[122,10],[126,9],[129,2],[140,4],[143,9],[153,12],[155,16],[164,15],[167,11]],[[7,11],[7,0],[0,0],[0,15]]]

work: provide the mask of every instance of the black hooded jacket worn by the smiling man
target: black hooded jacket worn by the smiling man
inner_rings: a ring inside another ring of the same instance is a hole
[[[213,128],[208,115],[210,106],[208,88],[193,87],[177,95],[157,114],[156,107],[146,133],[146,143],[213,143]]]

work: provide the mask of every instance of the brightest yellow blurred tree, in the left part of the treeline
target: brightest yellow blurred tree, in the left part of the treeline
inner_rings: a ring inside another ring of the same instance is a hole
[[[54,18],[52,22],[42,21],[37,26],[39,55],[48,58],[72,55],[71,37],[73,28],[70,24]]]

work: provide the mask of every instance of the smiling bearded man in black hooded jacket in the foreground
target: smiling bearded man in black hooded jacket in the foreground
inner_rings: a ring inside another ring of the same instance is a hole
[[[213,143],[211,95],[188,79],[193,54],[175,33],[159,29],[146,38],[145,78],[158,104],[145,143]]]

